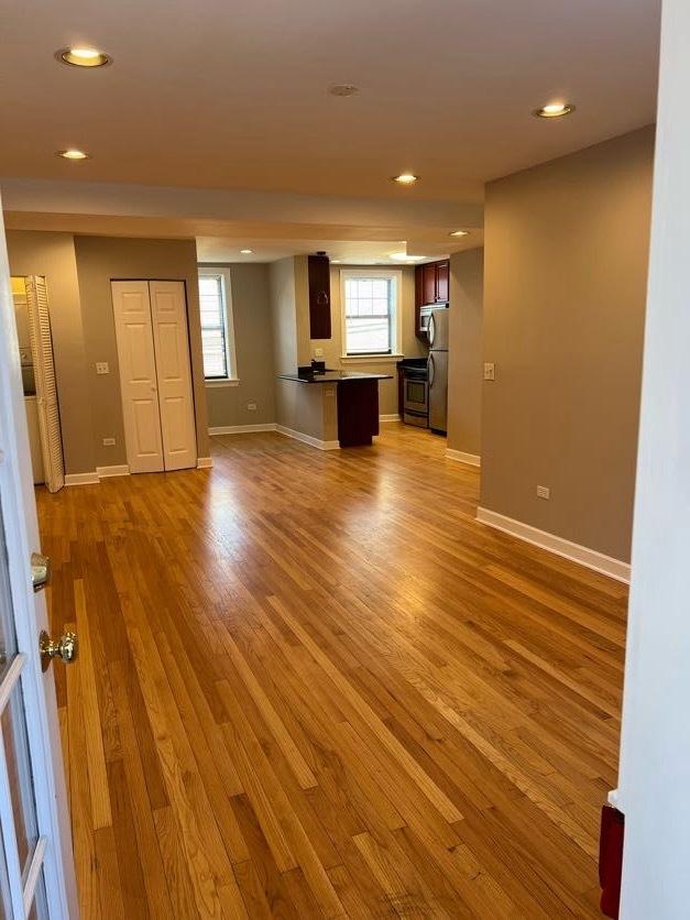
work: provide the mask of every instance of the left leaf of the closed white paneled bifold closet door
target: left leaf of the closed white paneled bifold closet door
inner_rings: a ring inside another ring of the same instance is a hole
[[[113,281],[127,462],[132,473],[164,469],[149,282]]]

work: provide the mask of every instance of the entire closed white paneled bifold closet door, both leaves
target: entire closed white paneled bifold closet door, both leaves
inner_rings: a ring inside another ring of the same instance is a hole
[[[185,285],[111,284],[130,472],[196,467]]]

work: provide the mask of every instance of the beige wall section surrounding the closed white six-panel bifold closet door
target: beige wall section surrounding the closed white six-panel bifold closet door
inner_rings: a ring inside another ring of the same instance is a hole
[[[208,456],[196,243],[194,240],[75,237],[75,252],[88,365],[88,392],[94,406],[92,443],[96,466],[109,467],[127,462],[110,289],[111,280],[117,278],[185,282],[197,449],[200,457]],[[107,361],[110,373],[97,375],[97,361]],[[114,447],[103,447],[103,438],[110,437],[116,438]]]

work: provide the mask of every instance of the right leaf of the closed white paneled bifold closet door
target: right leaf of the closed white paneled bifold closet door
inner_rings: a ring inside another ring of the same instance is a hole
[[[163,458],[166,470],[185,470],[197,464],[185,285],[182,281],[152,281],[149,288]]]

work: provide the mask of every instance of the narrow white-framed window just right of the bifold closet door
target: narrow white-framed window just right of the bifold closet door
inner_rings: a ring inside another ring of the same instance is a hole
[[[204,377],[208,383],[233,383],[237,362],[228,269],[199,269],[199,309]]]

